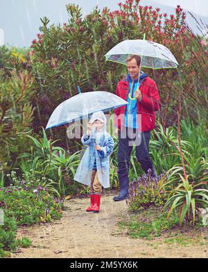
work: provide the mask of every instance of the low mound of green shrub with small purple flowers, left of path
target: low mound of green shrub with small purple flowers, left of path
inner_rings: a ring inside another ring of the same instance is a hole
[[[17,188],[11,186],[0,190],[0,201],[10,217],[15,217],[17,225],[30,226],[37,222],[60,219],[62,202],[38,186],[37,188]]]

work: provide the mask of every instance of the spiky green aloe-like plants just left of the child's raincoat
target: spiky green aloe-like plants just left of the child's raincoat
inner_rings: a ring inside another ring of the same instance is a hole
[[[48,140],[44,128],[42,128],[43,138],[37,138],[26,135],[33,141],[31,152],[19,155],[17,165],[24,175],[28,175],[31,170],[34,171],[34,179],[45,179],[44,184],[49,186],[58,195],[69,194],[77,183],[73,181],[80,159],[76,152],[67,154],[62,147],[54,146],[57,140]],[[43,180],[41,181],[43,183]],[[42,184],[43,185],[43,184]]]

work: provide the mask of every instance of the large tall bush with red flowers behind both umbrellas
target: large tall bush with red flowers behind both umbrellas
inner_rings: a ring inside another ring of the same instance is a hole
[[[81,10],[74,4],[67,5],[69,21],[63,25],[49,25],[49,19],[42,18],[42,26],[37,39],[31,44],[31,65],[35,77],[34,98],[35,132],[40,125],[45,126],[52,110],[63,100],[74,96],[79,85],[83,91],[115,90],[121,73],[126,74],[125,66],[105,62],[105,53],[124,39],[142,39],[166,45],[180,64],[184,62],[182,53],[186,48],[187,31],[185,12],[177,6],[175,15],[168,17],[159,8],[139,6],[139,0],[119,3],[119,10],[99,10],[82,17]],[[191,39],[191,38],[190,38]],[[191,66],[191,65],[190,65]],[[177,106],[177,89],[171,84],[175,71],[147,71],[157,82],[162,98],[162,124],[175,122],[170,116]],[[189,80],[187,81],[187,83]],[[168,92],[168,98],[166,93]],[[168,106],[168,109],[166,108]],[[166,122],[164,122],[166,121]],[[171,123],[171,124],[172,124]],[[164,125],[164,126],[165,126]],[[61,128],[53,129],[54,135],[61,138]],[[51,132],[52,133],[52,132]],[[63,145],[65,140],[62,140]]]

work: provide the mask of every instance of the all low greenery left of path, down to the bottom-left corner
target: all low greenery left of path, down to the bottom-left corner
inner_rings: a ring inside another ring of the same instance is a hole
[[[0,208],[4,213],[0,226],[0,256],[15,251],[18,246],[30,246],[30,239],[17,239],[17,226],[49,222],[62,216],[63,201],[51,197],[40,186],[18,189],[15,186],[0,189]]]

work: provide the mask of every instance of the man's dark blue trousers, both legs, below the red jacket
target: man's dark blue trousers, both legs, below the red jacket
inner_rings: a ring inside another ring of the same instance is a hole
[[[132,132],[137,134],[138,130],[132,129]],[[118,175],[119,175],[119,188],[121,196],[128,194],[129,188],[129,179],[128,179],[128,170],[130,167],[130,154],[132,152],[132,146],[130,142],[135,138],[130,138],[126,134],[125,138],[121,138],[121,131],[119,131],[119,150],[118,150]],[[153,161],[149,156],[149,141],[150,141],[150,131],[149,132],[140,132],[139,134],[140,143],[137,144],[136,140],[136,156],[137,160],[141,164],[141,168],[144,172],[148,172],[148,169],[151,170],[151,176],[157,176],[153,167]]]

